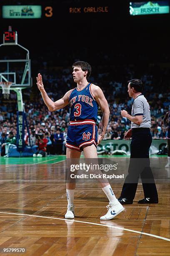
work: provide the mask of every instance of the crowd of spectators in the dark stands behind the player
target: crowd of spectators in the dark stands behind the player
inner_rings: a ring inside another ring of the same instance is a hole
[[[139,72],[140,70],[140,72]],[[47,67],[44,62],[41,69],[43,84],[52,100],[58,100],[65,92],[75,87],[72,79],[72,69]],[[146,65],[145,68],[136,65],[124,64],[113,66],[97,66],[92,69],[90,82],[97,84],[103,90],[110,107],[110,120],[104,140],[123,139],[125,131],[130,128],[130,121],[122,118],[121,108],[131,113],[133,99],[128,96],[127,81],[140,78],[144,83],[143,94],[150,104],[151,134],[153,139],[166,139],[167,128],[163,124],[165,113],[170,110],[170,67],[161,65]],[[55,111],[48,111],[39,90],[36,78],[33,78],[33,87],[23,90],[25,113],[27,115],[30,140],[32,145],[39,145],[36,134],[42,134],[47,154],[65,154],[67,127],[70,121],[69,106]],[[2,91],[1,91],[2,93]],[[10,91],[9,101],[0,96],[0,143],[1,155],[4,155],[5,143],[16,141],[17,133],[17,98],[16,93]],[[98,133],[102,127],[102,112],[98,110]],[[42,142],[42,141],[41,141]],[[28,131],[25,128],[25,144],[30,145]],[[38,153],[37,153],[38,155]],[[43,155],[43,153],[42,153]]]

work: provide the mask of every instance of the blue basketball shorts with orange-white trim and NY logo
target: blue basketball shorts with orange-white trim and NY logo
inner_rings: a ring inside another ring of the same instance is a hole
[[[70,121],[65,146],[81,152],[83,151],[83,146],[92,144],[97,147],[97,126],[95,121],[88,119]]]

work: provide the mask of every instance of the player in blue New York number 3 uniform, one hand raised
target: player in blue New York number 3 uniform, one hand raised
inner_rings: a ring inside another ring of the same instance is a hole
[[[91,66],[87,62],[77,61],[72,65],[73,79],[77,87],[69,90],[60,99],[53,102],[45,92],[42,84],[42,76],[38,74],[37,86],[42,98],[50,111],[59,110],[70,104],[70,125],[67,131],[66,157],[67,159],[79,159],[81,151],[84,152],[85,159],[97,159],[97,144],[100,143],[105,135],[109,120],[109,107],[105,96],[100,87],[87,82],[91,74]],[[100,106],[102,117],[102,131],[97,139],[97,107]],[[100,220],[111,220],[124,208],[116,199],[112,188],[107,180],[106,183],[100,182],[103,192],[109,200],[107,213],[100,217]],[[65,218],[74,218],[74,191],[75,183],[66,183],[67,212]]]

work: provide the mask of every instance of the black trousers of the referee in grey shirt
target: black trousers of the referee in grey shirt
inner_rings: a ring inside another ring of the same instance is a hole
[[[133,128],[130,144],[128,175],[122,187],[121,197],[134,199],[139,176],[142,180],[144,196],[158,198],[158,193],[150,168],[149,149],[152,143],[150,128]]]

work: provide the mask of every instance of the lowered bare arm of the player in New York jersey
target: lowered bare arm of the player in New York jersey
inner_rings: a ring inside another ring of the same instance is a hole
[[[106,128],[109,122],[109,115],[110,115],[110,110],[109,106],[107,103],[107,100],[105,98],[105,95],[103,94],[102,90],[100,87],[98,87],[95,84],[92,84],[91,86],[91,92],[94,97],[94,99],[97,101],[98,105],[100,106],[103,116],[102,116],[102,129],[101,129],[101,134],[97,139],[97,145],[102,141],[102,138],[105,135]]]

